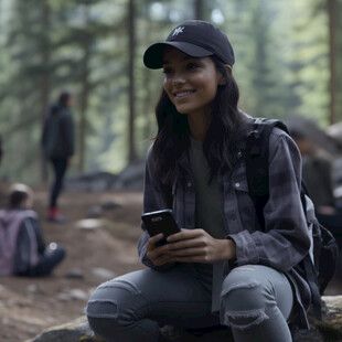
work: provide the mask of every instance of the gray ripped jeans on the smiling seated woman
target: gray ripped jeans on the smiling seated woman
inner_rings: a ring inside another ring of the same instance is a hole
[[[237,267],[223,282],[221,322],[231,327],[235,342],[290,342],[292,303],[291,286],[281,272],[260,265]],[[160,324],[220,324],[211,312],[211,293],[186,267],[143,269],[107,281],[92,295],[86,314],[107,342],[157,342]]]

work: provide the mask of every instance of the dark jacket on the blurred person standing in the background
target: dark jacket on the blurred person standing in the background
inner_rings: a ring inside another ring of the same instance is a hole
[[[74,122],[71,110],[52,106],[44,124],[42,146],[46,158],[66,159],[74,154]]]

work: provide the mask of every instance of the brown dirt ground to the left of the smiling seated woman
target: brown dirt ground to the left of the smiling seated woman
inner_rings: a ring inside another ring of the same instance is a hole
[[[0,278],[1,342],[23,342],[45,328],[82,316],[92,290],[106,280],[94,275],[94,268],[119,276],[143,267],[136,249],[140,235],[141,193],[64,193],[61,207],[68,222],[63,225],[44,220],[46,196],[46,191],[35,192],[34,210],[41,217],[46,242],[65,246],[67,257],[52,277]],[[119,206],[110,207],[113,202]],[[77,222],[87,217],[89,209],[105,203],[109,203],[109,209],[101,214],[107,220],[106,227],[77,227]],[[83,278],[66,277],[71,271],[81,271]]]

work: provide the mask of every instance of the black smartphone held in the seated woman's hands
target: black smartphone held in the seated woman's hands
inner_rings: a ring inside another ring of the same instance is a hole
[[[164,238],[158,242],[158,245],[167,243],[167,238],[175,233],[181,232],[177,221],[173,217],[171,210],[162,210],[157,212],[145,213],[141,215],[145,228],[150,236],[159,233],[164,235]]]

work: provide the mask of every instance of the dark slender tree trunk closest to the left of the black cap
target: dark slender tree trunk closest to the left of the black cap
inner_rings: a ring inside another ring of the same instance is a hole
[[[135,1],[128,2],[128,73],[129,73],[129,88],[128,88],[128,101],[129,101],[129,118],[128,118],[128,162],[132,163],[137,159],[136,146],[135,146],[135,47],[136,47],[136,31],[135,31]]]

